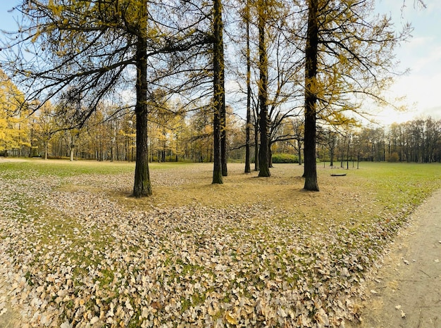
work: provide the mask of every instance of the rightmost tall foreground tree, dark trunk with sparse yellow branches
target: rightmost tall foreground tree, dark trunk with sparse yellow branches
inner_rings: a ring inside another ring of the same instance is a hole
[[[394,75],[393,50],[410,27],[396,34],[390,18],[371,15],[373,0],[306,2],[304,188],[318,191],[317,118],[344,122],[346,113],[361,113],[363,97],[387,103],[382,94]]]

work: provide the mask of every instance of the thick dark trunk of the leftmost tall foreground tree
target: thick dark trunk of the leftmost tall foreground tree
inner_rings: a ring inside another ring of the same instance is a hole
[[[142,1],[139,10],[145,11],[140,15],[142,27],[137,39],[136,51],[136,164],[135,184],[133,196],[142,197],[151,195],[151,182],[149,172],[149,147],[147,139],[147,0]]]

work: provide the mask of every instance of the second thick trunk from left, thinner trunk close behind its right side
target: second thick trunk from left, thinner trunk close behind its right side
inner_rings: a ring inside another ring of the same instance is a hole
[[[213,184],[222,184],[222,142],[221,115],[225,108],[225,89],[223,73],[223,40],[222,40],[222,4],[221,0],[213,0]]]

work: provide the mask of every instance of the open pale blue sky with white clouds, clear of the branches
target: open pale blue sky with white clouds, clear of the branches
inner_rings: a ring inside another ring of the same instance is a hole
[[[409,70],[398,76],[389,90],[391,98],[405,96],[406,112],[383,110],[374,119],[383,125],[406,122],[416,118],[441,119],[441,1],[423,0],[426,8],[417,0],[378,0],[377,11],[389,13],[397,29],[411,23],[414,31],[408,42],[397,49],[400,61],[397,71]],[[14,30],[14,16],[8,13],[20,0],[0,0],[0,29]],[[403,7],[403,3],[405,6]]]

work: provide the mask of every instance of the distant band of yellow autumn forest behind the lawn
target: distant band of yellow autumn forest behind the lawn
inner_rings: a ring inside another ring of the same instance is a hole
[[[129,109],[115,114],[114,108],[102,106],[85,125],[71,129],[50,103],[32,115],[26,112],[12,115],[8,107],[11,87],[8,80],[2,81],[0,156],[135,160],[135,117]],[[209,113],[177,110],[178,114],[167,115],[165,111],[161,113],[161,108],[151,111],[154,114],[149,124],[151,162],[213,161],[213,124]],[[251,130],[255,131],[255,120],[251,122]],[[235,115],[233,108],[228,108],[228,160],[244,162],[245,129],[245,121]],[[284,118],[271,130],[273,163],[302,163],[303,129],[302,118]],[[346,165],[343,161],[348,158],[350,161],[440,162],[441,120],[421,118],[387,127],[322,127],[318,129],[317,158],[341,166]],[[251,163],[254,163],[254,147]]]

